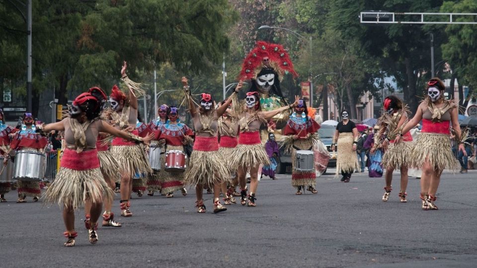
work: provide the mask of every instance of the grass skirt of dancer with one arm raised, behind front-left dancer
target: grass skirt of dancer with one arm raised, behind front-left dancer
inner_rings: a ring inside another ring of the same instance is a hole
[[[130,178],[133,178],[136,172],[148,175],[152,173],[148,156],[142,144],[113,145],[111,153]]]

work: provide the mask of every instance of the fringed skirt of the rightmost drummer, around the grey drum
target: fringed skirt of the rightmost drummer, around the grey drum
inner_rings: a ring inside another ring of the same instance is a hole
[[[298,186],[313,186],[315,187],[317,185],[317,174],[315,172],[315,169],[313,170],[296,170],[295,169],[295,161],[297,159],[297,149],[295,147],[299,148],[300,150],[310,150],[310,148],[313,147],[313,142],[311,140],[302,140],[302,139],[297,139],[293,142],[293,148],[292,148],[292,186],[293,187],[298,187]]]

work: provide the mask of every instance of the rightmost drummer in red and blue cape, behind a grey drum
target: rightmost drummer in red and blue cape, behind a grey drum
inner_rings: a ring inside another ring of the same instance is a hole
[[[308,116],[306,102],[299,100],[283,131],[283,134],[288,136],[284,139],[284,146],[292,151],[292,186],[297,188],[297,195],[301,195],[302,188],[305,191],[306,187],[313,194],[318,193],[315,190],[317,175],[314,162],[310,170],[297,170],[295,161],[297,150],[312,150],[314,143],[318,140],[315,133],[319,128],[318,123]]]

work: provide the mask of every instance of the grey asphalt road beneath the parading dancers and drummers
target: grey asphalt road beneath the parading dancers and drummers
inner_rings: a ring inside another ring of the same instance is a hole
[[[331,171],[331,170],[329,170]],[[382,202],[384,179],[354,174],[350,183],[318,178],[317,195],[296,196],[290,175],[264,178],[257,207],[230,205],[195,212],[195,194],[132,200],[122,228],[100,228],[91,245],[77,212],[79,237],[66,239],[61,210],[16,193],[0,203],[0,267],[476,267],[477,171],[445,173],[438,211],[420,209],[419,180],[410,178],[408,202],[398,180]],[[194,191],[189,191],[194,192]]]

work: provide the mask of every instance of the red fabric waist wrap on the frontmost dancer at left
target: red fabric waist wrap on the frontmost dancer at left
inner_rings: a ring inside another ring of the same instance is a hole
[[[77,153],[76,150],[66,148],[60,162],[60,167],[73,170],[88,170],[99,166],[97,149]]]

